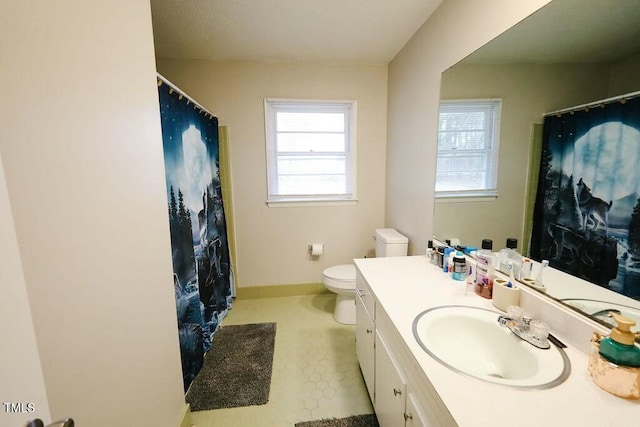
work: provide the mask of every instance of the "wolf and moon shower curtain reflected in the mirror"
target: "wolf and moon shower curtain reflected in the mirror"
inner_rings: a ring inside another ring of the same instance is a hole
[[[530,255],[640,299],[640,98],[544,121]]]

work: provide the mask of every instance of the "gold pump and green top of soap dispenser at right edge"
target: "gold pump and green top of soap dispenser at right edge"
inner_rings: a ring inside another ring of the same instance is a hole
[[[600,340],[600,355],[616,365],[640,367],[640,347],[635,345],[635,336],[631,327],[634,320],[611,313],[617,326],[611,329],[608,337]]]

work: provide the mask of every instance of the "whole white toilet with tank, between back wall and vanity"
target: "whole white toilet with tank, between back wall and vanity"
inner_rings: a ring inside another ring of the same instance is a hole
[[[393,228],[376,230],[376,257],[406,256],[409,239]],[[356,323],[356,266],[353,264],[334,265],[322,272],[322,283],[337,294],[333,318],[338,323]]]

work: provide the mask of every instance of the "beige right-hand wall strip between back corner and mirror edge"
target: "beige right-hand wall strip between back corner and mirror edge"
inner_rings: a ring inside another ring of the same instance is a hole
[[[548,2],[446,0],[389,65],[385,224],[413,254],[434,231],[440,74]]]

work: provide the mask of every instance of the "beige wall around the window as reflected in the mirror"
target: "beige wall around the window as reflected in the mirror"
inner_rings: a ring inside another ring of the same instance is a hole
[[[502,98],[498,193],[491,201],[436,201],[434,234],[494,249],[507,237],[523,249],[523,221],[533,123],[543,114],[606,98],[609,65],[456,65],[442,75],[442,99]]]

